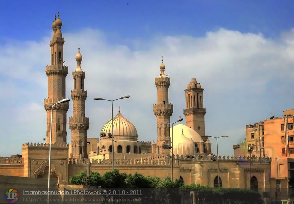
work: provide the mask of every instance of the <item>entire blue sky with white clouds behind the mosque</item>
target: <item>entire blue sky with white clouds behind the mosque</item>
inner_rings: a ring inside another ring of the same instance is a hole
[[[118,98],[121,113],[137,128],[139,140],[156,140],[154,78],[160,55],[171,77],[171,121],[183,116],[184,89],[201,82],[206,135],[229,135],[219,153],[232,155],[246,124],[294,108],[292,101],[294,21],[292,1],[2,1],[0,33],[0,156],[21,153],[21,144],[42,142],[47,97],[45,66],[54,14],[60,12],[65,61],[76,67],[83,55],[88,90],[89,137],[98,137]],[[72,89],[67,75],[67,96]],[[144,94],[143,94],[144,93]],[[149,96],[149,97],[147,97]],[[67,117],[72,113],[72,106]],[[67,130],[70,142],[70,130]],[[5,138],[5,139],[4,139]],[[215,153],[215,143],[213,152]],[[7,145],[10,144],[10,145]]]

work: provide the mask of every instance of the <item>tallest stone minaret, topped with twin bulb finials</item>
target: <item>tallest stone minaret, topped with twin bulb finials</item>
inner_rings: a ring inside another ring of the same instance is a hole
[[[65,99],[65,77],[68,73],[68,67],[63,64],[63,44],[64,38],[61,34],[62,22],[59,18],[52,24],[53,36],[50,41],[51,47],[51,63],[45,68],[48,76],[48,98],[44,100],[44,108],[47,111],[47,143],[50,142],[50,122],[51,108],[57,101]],[[66,143],[66,113],[69,107],[69,102],[57,104],[53,108],[52,117],[52,143]]]

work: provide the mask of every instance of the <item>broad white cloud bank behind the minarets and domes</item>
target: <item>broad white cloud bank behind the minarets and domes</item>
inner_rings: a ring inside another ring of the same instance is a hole
[[[171,78],[169,102],[174,104],[171,121],[177,120],[179,115],[184,117],[183,90],[191,78],[196,78],[205,88],[206,133],[215,136],[231,134],[229,141],[220,141],[219,145],[223,145],[220,154],[233,153],[232,145],[244,135],[247,123],[258,122],[269,112],[282,114],[284,109],[293,108],[283,101],[276,106],[276,101],[268,100],[278,99],[281,94],[293,100],[293,96],[288,94],[293,86],[293,30],[282,33],[279,39],[270,39],[262,33],[219,29],[202,37],[154,36],[148,42],[136,39],[133,45],[127,44],[129,40],[123,45],[110,43],[101,31],[90,28],[79,33],[63,33],[63,37],[64,60],[69,67],[66,81],[68,97],[73,87],[71,72],[76,68],[77,45],[81,47],[81,67],[86,72],[85,89],[88,91],[86,116],[90,118],[89,137],[97,137],[111,117],[110,103],[94,103],[93,97],[116,99],[131,95],[129,99],[114,102],[114,115],[120,105],[124,117],[136,125],[138,140],[156,140],[153,104],[157,101],[157,93],[154,78],[160,73],[161,55],[166,73]],[[9,43],[0,50],[3,62],[0,85],[5,87],[5,78],[13,83],[1,97],[17,97],[11,92],[22,95],[21,103],[0,102],[7,109],[3,113],[8,114],[11,109],[21,113],[12,112],[11,121],[5,121],[7,126],[14,127],[8,134],[28,137],[32,142],[38,142],[45,135],[46,113],[42,103],[47,97],[45,65],[50,62],[49,42],[50,37],[45,37],[40,42]],[[284,94],[279,87],[283,87]],[[27,111],[21,111],[23,104],[30,104],[26,106]],[[71,115],[72,105],[67,117]],[[19,119],[21,117],[27,122]],[[26,131],[33,129],[34,132],[24,132],[21,129],[24,124]],[[70,142],[70,130],[67,131],[67,141]],[[9,151],[0,150],[0,155],[19,152],[21,142],[14,143]]]

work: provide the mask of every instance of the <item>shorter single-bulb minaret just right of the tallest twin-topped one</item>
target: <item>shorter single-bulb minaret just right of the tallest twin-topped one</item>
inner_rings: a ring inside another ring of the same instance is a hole
[[[72,73],[74,78],[74,90],[71,91],[73,103],[72,117],[68,119],[71,129],[71,158],[88,158],[87,155],[87,130],[89,129],[89,118],[85,117],[85,101],[87,91],[84,90],[84,78],[86,73],[81,68],[82,55],[76,54],[76,71]]]

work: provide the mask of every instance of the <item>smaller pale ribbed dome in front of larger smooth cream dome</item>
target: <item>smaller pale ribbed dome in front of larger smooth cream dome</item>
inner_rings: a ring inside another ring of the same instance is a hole
[[[175,136],[175,135],[174,135]],[[195,154],[195,146],[194,142],[191,139],[188,139],[183,133],[174,137],[173,153],[175,155],[194,155]]]

